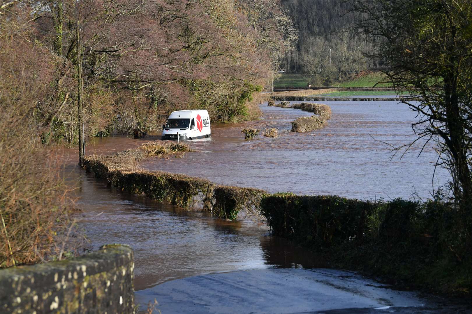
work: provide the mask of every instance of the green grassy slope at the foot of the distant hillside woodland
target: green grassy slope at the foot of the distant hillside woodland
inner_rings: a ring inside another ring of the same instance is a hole
[[[377,82],[384,80],[385,76],[380,72],[373,72],[366,75],[363,75],[358,78],[346,80],[346,81],[337,81],[333,80],[331,86],[329,87],[367,87],[372,88]],[[310,81],[310,74],[304,73],[286,73],[282,74],[280,79],[274,81],[274,88],[283,88],[283,87],[306,87],[308,88],[308,82]],[[391,84],[383,83],[377,84],[376,87],[390,87]],[[327,86],[328,87],[328,86]],[[385,94],[384,94],[385,95]]]

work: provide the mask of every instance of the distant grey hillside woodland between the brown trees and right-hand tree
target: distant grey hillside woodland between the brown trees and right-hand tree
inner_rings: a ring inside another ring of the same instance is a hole
[[[381,65],[363,57],[372,45],[354,27],[362,13],[352,11],[349,1],[283,0],[282,5],[299,30],[296,49],[287,51],[284,59],[285,71],[309,73],[312,84],[321,85],[331,76],[341,79]]]

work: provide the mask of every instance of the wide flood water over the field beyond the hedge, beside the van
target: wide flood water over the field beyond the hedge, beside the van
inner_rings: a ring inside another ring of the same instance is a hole
[[[278,138],[244,140],[243,127],[291,129],[291,122],[311,113],[261,105],[262,120],[212,125],[212,137],[188,141],[198,152],[183,159],[150,160],[143,167],[204,177],[212,182],[256,187],[269,192],[335,194],[348,198],[408,199],[430,191],[449,178],[436,169],[438,155],[429,146],[418,158],[417,143],[400,159],[392,146],[411,143],[415,120],[406,105],[396,102],[322,102],[333,117],[325,129],[287,133]],[[385,143],[382,143],[385,142]]]

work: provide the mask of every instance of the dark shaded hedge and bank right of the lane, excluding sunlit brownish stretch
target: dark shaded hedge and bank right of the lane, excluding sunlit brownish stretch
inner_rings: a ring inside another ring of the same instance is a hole
[[[472,289],[470,235],[453,204],[277,193],[262,198],[261,213],[274,235],[335,267],[443,293]]]

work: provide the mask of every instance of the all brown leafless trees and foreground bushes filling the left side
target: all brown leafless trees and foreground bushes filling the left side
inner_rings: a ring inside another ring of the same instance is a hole
[[[296,39],[276,0],[0,0],[0,268],[60,259],[74,233],[48,144],[77,144],[79,90],[85,137],[250,119]]]

